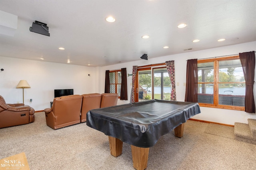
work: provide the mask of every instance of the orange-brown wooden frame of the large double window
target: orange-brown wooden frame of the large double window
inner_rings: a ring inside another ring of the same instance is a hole
[[[221,58],[214,58],[214,59],[202,59],[198,60],[197,63],[209,63],[214,62],[214,95],[213,95],[213,104],[205,104],[205,103],[199,103],[199,106],[202,107],[214,107],[214,108],[220,108],[220,109],[231,109],[231,110],[240,110],[244,111],[245,108],[243,106],[229,106],[229,105],[220,105],[219,103],[219,92],[218,92],[218,85],[219,84],[227,84],[227,83],[242,83],[242,82],[218,82],[218,61],[227,61],[227,60],[236,60],[239,59],[239,55],[236,56],[230,56],[230,57],[221,57]],[[198,84],[209,84],[210,82],[198,82]]]

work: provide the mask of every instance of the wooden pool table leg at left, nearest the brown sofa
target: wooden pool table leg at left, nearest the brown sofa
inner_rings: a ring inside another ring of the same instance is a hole
[[[108,136],[109,147],[110,147],[110,154],[112,156],[119,156],[122,154],[123,142],[115,137]]]

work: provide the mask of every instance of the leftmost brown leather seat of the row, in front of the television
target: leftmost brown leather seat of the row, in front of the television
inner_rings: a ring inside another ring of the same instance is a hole
[[[81,95],[54,98],[52,107],[44,109],[46,124],[52,129],[59,129],[80,123],[81,106]]]

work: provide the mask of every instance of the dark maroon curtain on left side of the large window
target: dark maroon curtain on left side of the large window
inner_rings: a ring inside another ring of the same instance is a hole
[[[187,61],[185,102],[197,102],[197,59]]]

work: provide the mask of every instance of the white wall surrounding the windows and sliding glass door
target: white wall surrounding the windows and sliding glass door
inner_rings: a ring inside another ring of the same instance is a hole
[[[202,51],[194,51],[176,55],[169,55],[164,57],[158,57],[150,59],[148,54],[148,61],[141,60],[138,56],[138,61],[129,63],[120,63],[111,66],[104,66],[99,68],[99,92],[104,92],[104,81],[106,70],[116,70],[120,68],[126,68],[127,74],[132,73],[132,66],[144,66],[148,64],[164,63],[165,61],[174,60],[175,62],[175,81],[176,81],[176,95],[177,101],[184,101],[185,98],[185,86],[186,83],[186,60],[188,59],[203,59],[208,57],[218,57],[225,55],[235,55],[238,53],[256,51],[256,41],[250,43],[242,43],[238,45],[231,45],[226,47],[219,47],[214,49],[207,49]],[[256,77],[256,73],[255,73]],[[254,78],[256,80],[256,78]],[[179,86],[177,86],[179,82]],[[118,100],[118,104],[126,104],[130,102],[132,76],[127,77],[128,86],[128,101]],[[256,84],[254,84],[254,98],[256,97]],[[200,107],[201,113],[194,116],[193,119],[200,119],[204,121],[212,121],[218,123],[224,123],[234,125],[235,122],[248,123],[247,119],[256,119],[255,113],[246,113],[244,111],[228,110],[228,109],[216,109],[210,107]]]

